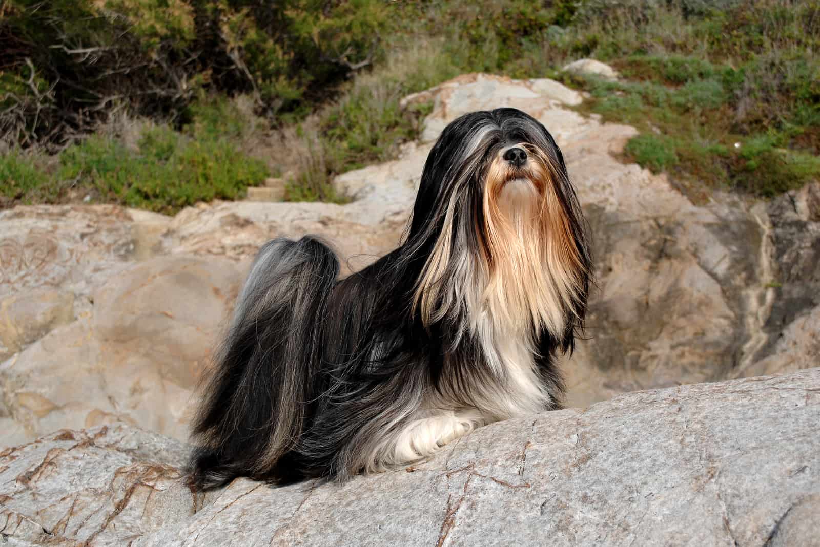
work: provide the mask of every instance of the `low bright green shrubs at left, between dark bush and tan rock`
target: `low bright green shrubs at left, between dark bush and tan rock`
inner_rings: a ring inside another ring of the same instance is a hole
[[[0,196],[21,203],[79,197],[174,213],[197,201],[237,199],[266,178],[266,165],[217,137],[207,116],[189,127],[148,125],[136,147],[93,135],[66,147],[49,170],[11,153],[0,160]]]

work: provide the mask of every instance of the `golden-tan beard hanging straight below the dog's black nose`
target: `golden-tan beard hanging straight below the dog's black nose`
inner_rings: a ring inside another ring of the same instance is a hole
[[[560,171],[549,156],[519,144],[530,160],[515,168],[494,159],[484,192],[485,269],[482,300],[510,333],[544,328],[563,335],[567,310],[585,274],[568,215],[558,198]]]

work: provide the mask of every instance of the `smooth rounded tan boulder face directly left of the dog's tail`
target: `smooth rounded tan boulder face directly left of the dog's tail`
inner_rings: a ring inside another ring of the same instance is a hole
[[[185,439],[191,391],[243,275],[229,260],[189,256],[121,271],[94,292],[93,313],[0,365],[0,400],[25,433],[0,432],[0,445],[115,422]]]

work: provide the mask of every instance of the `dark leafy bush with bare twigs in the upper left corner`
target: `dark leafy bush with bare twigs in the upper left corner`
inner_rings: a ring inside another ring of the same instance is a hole
[[[0,130],[62,146],[116,108],[185,123],[202,90],[268,114],[328,96],[378,55],[380,0],[7,0]],[[306,102],[307,101],[307,102]]]

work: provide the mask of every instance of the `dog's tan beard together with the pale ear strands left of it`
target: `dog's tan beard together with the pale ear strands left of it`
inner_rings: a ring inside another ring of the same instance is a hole
[[[489,315],[495,332],[520,337],[544,329],[563,337],[587,272],[572,233],[572,210],[559,197],[561,170],[536,147],[517,146],[528,152],[525,165],[510,165],[502,149],[483,170],[474,234],[463,223],[453,226],[465,204],[458,192],[450,197],[415,293],[423,323],[464,311],[462,330],[477,332]]]

